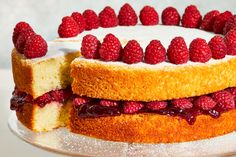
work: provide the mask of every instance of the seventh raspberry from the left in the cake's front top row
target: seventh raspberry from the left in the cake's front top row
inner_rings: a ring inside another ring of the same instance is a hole
[[[214,36],[208,42],[208,45],[212,52],[212,58],[214,59],[222,59],[225,57],[227,53],[227,47],[224,42],[224,38],[221,36]]]

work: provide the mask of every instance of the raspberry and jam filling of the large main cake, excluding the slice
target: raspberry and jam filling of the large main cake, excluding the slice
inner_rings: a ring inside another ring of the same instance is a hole
[[[119,116],[121,114],[153,113],[179,116],[190,125],[198,115],[220,117],[221,113],[235,109],[236,88],[227,88],[208,95],[168,101],[112,101],[88,97],[74,97],[73,105],[81,118]]]

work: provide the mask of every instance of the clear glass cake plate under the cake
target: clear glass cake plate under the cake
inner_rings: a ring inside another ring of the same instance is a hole
[[[74,134],[66,128],[35,133],[24,127],[11,114],[10,130],[22,140],[39,148],[67,155],[80,156],[230,156],[236,154],[236,133],[194,142],[173,144],[139,144],[104,141]]]

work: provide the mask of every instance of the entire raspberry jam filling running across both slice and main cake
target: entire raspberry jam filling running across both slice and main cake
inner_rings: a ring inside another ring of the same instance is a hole
[[[194,124],[198,115],[205,114],[213,118],[221,113],[235,109],[236,87],[227,88],[208,95],[180,98],[167,101],[113,101],[72,94],[71,88],[53,90],[33,99],[31,95],[15,88],[11,98],[11,110],[21,112],[25,104],[37,104],[44,107],[56,101],[63,103],[73,99],[73,106],[81,118],[97,118],[105,116],[119,116],[121,114],[153,113],[168,116],[179,116],[190,125]]]

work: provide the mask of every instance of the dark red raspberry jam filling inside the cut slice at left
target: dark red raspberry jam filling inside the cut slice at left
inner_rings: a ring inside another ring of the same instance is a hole
[[[33,97],[25,92],[19,91],[17,88],[12,93],[10,109],[20,112],[24,104],[37,104],[39,107],[44,107],[50,102],[63,103],[72,96],[71,88],[60,90],[52,90],[42,96],[33,99]]]

